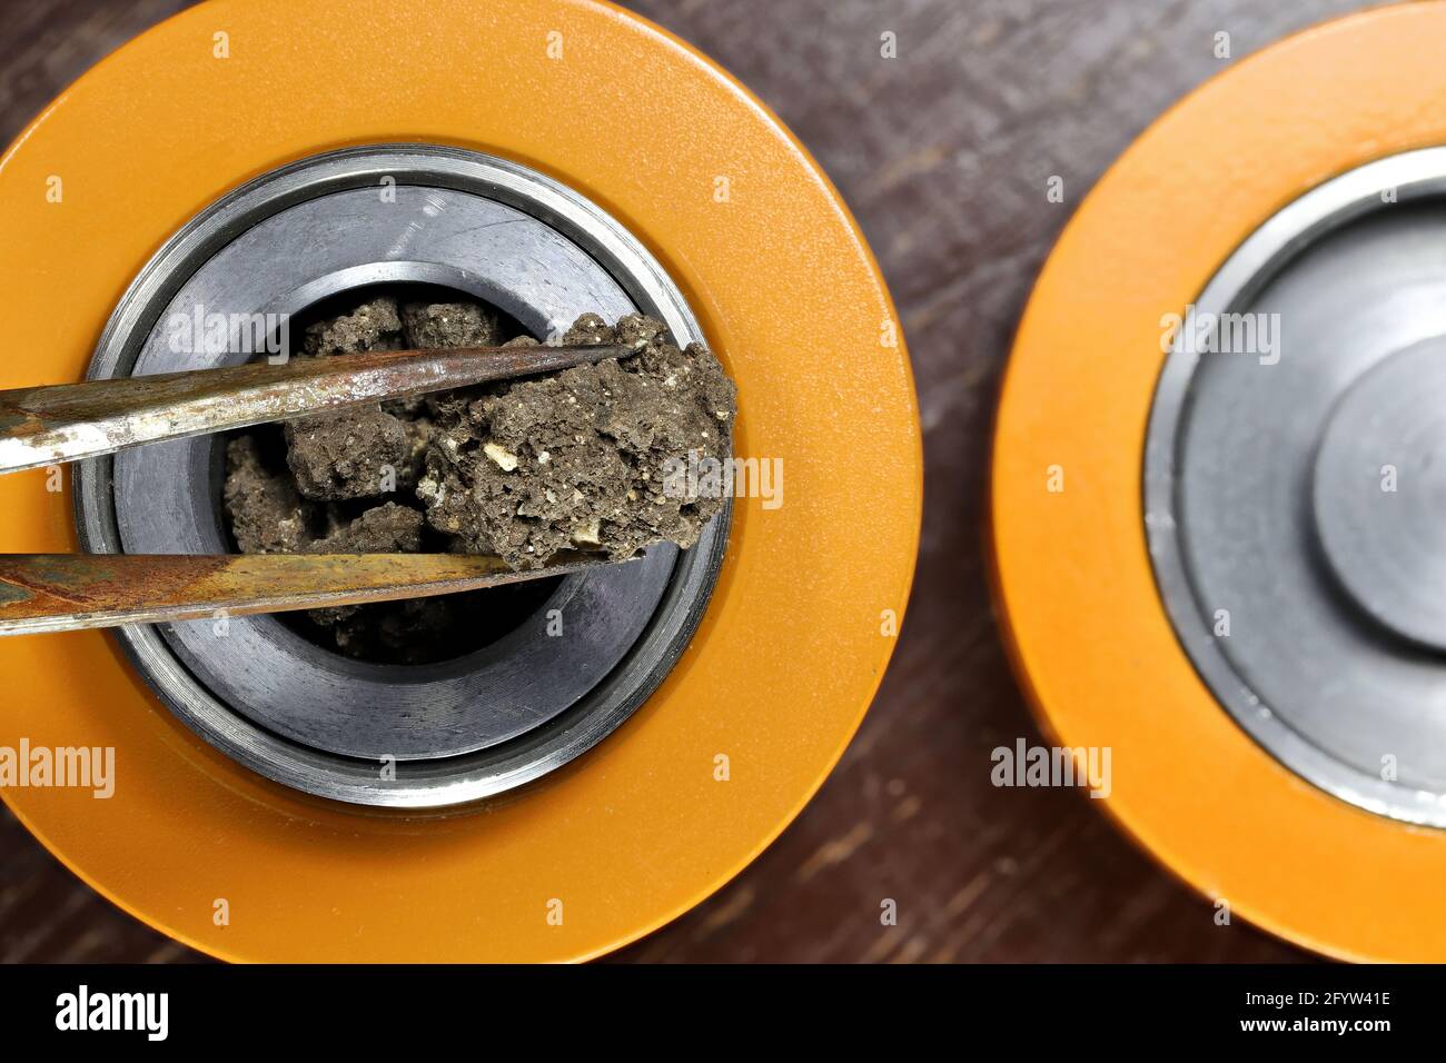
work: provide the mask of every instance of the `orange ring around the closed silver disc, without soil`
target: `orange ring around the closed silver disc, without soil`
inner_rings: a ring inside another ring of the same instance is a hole
[[[1267,217],[1384,155],[1446,143],[1446,4],[1326,23],[1161,117],[1070,221],[1025,311],[992,469],[996,590],[1061,745],[1111,746],[1109,813],[1233,914],[1342,959],[1440,960],[1446,832],[1309,785],[1235,726],[1176,641],[1141,509],[1160,320]],[[1066,489],[1045,490],[1060,466]],[[1202,918],[1210,918],[1212,911]]]

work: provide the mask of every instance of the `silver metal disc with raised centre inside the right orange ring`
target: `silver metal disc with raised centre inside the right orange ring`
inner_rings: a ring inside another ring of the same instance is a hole
[[[1446,149],[1296,200],[1196,314],[1278,347],[1165,360],[1144,503],[1180,641],[1284,765],[1446,826]]]

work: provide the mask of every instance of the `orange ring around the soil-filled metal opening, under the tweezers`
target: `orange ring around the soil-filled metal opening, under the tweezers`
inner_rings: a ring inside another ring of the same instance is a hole
[[[137,38],[0,159],[0,388],[78,379],[127,283],[205,204],[382,142],[512,158],[639,236],[739,383],[737,451],[782,458],[784,505],[739,499],[709,613],[648,704],[482,810],[383,816],[265,782],[176,723],[101,633],[0,642],[0,745],[111,746],[114,795],[0,794],[104,895],[220,957],[586,959],[740,871],[862,720],[918,542],[908,359],[881,346],[897,315],[816,163],[649,23],[591,0],[252,0]],[[6,551],[74,550],[43,471],[0,479],[0,513]]]

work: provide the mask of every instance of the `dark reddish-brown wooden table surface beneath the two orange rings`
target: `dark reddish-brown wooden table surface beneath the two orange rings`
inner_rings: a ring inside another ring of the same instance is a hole
[[[484,0],[477,0],[483,3]],[[6,6],[0,142],[187,4]],[[1225,62],[1351,0],[635,0],[758,93],[839,185],[882,263],[918,379],[924,538],[905,629],[843,762],[785,834],[622,960],[1297,960],[1213,908],[1076,791],[999,790],[1038,740],[986,589],[991,409],[1071,204]],[[898,59],[879,35],[898,35]],[[1043,195],[1050,175],[1067,202]],[[6,253],[23,249],[6,247]],[[884,898],[898,926],[879,924]],[[113,908],[0,813],[0,960],[198,956]]]

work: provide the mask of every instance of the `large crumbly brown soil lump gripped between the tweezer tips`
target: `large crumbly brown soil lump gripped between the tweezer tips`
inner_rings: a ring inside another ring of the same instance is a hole
[[[639,315],[610,327],[586,314],[562,341],[638,354],[435,399],[416,483],[427,519],[513,568],[564,550],[625,560],[652,542],[691,547],[722,499],[665,490],[664,473],[690,451],[729,456],[733,382],[704,347],[678,350]]]

